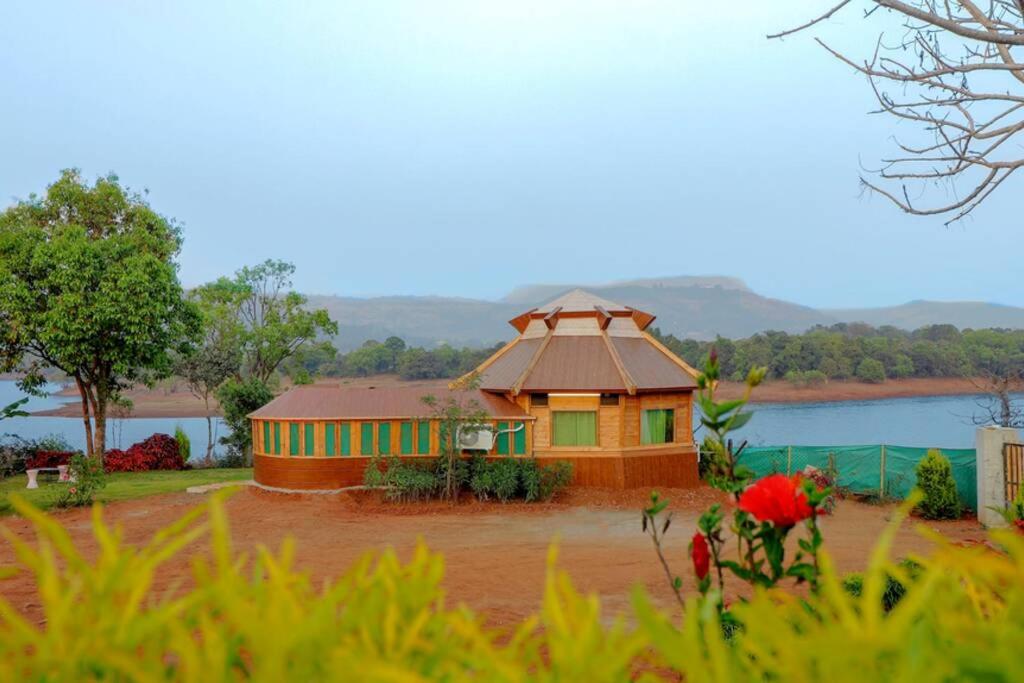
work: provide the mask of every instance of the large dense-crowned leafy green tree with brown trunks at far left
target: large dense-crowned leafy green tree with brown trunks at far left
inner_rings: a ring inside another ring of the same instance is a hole
[[[109,405],[167,376],[169,351],[199,332],[180,248],[178,227],[115,175],[89,186],[63,171],[45,196],[0,214],[0,368],[24,369],[30,392],[47,368],[72,378],[90,456],[104,452]]]

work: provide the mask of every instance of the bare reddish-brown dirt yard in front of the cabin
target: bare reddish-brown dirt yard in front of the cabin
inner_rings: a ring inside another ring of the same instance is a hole
[[[693,579],[686,545],[696,517],[720,495],[708,487],[666,490],[675,511],[667,550],[674,568],[688,587]],[[398,505],[376,494],[297,496],[256,488],[240,490],[228,503],[236,547],[251,551],[258,545],[276,548],[288,536],[297,541],[297,564],[314,579],[345,570],[369,550],[394,547],[408,558],[418,539],[446,560],[444,588],[451,604],[466,603],[495,626],[519,621],[540,607],[549,544],[557,540],[560,565],[585,592],[601,596],[606,613],[624,611],[630,591],[641,583],[666,607],[674,605],[650,541],[641,532],[639,510],[645,490],[573,490],[543,505],[442,503]],[[106,518],[124,528],[128,543],[141,544],[155,529],[182,515],[200,496],[170,494],[108,506]],[[869,550],[892,514],[892,507],[843,501],[823,520],[826,547],[843,571],[863,568]],[[91,556],[89,511],[58,513],[79,548]],[[18,518],[2,522],[19,537],[32,529]],[[895,545],[899,556],[927,554],[929,543],[915,530],[920,520],[905,522]],[[930,522],[929,526],[958,541],[980,541],[984,533],[974,520]],[[0,565],[13,561],[11,548],[0,542]],[[250,555],[251,556],[251,555]],[[187,560],[173,560],[160,572],[162,586],[188,577]],[[15,608],[40,616],[35,586],[20,574],[0,581],[0,593]]]

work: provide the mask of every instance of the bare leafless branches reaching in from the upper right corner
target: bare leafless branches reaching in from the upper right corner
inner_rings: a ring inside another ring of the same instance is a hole
[[[769,38],[806,31],[854,4],[831,2],[816,18]],[[1024,168],[1024,62],[1014,52],[1024,47],[1024,2],[858,3],[865,7],[866,17],[895,18],[898,37],[887,42],[880,35],[873,54],[863,61],[820,39],[817,42],[867,77],[878,113],[908,122],[924,133],[920,140],[897,139],[896,153],[874,172],[877,180],[861,177],[861,183],[907,213],[949,215],[948,225],[974,211]],[[957,181],[967,186],[949,199],[944,193],[955,190]],[[924,204],[911,201],[911,196],[930,197],[929,190],[943,196]]]

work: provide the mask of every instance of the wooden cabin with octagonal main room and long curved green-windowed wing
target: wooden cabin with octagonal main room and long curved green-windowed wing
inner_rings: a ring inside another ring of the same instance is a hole
[[[430,394],[487,414],[488,457],[566,460],[577,485],[695,485],[696,373],[645,332],[653,321],[575,290],[510,321],[516,338],[451,384],[295,387],[249,416],[255,479],[334,489],[377,455],[437,456]]]

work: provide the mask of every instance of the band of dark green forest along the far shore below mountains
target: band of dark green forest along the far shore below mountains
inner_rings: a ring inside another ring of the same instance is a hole
[[[678,339],[656,328],[651,334],[690,365],[699,368],[715,346],[723,374],[740,380],[753,366],[766,366],[768,377],[795,384],[827,380],[884,382],[904,377],[974,377],[1024,372],[1024,331],[965,330],[933,325],[913,332],[859,323],[817,327],[804,334],[765,332],[746,339],[713,342]],[[348,353],[318,350],[297,358],[297,375],[365,377],[394,373],[407,380],[458,377],[501,348],[434,349],[409,347],[398,337],[368,341]]]

